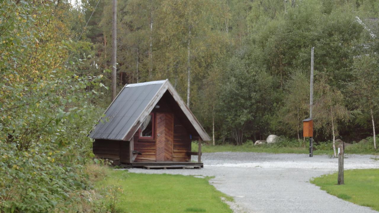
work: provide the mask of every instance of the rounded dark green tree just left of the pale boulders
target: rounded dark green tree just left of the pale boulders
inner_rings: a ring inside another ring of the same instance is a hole
[[[249,136],[266,136],[266,119],[273,108],[273,78],[262,70],[247,67],[244,59],[232,58],[228,64],[216,112],[223,119],[224,131],[241,145]],[[246,131],[249,129],[249,131]]]

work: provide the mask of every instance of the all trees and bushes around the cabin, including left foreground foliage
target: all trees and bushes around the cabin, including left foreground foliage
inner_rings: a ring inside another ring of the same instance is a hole
[[[378,13],[376,0],[118,1],[117,90],[169,79],[216,144],[301,139],[315,47],[315,142],[373,141]],[[110,0],[0,1],[0,212],[104,205],[84,165],[111,102],[111,16]]]

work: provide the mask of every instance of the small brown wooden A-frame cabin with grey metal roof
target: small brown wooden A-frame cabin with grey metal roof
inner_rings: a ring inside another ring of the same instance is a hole
[[[168,80],[125,85],[104,114],[89,134],[96,157],[134,167],[203,166],[201,141],[210,137]]]

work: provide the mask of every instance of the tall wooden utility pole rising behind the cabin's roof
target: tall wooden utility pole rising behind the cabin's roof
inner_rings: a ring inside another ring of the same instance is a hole
[[[116,55],[117,55],[117,0],[113,0],[112,21],[112,100],[116,98]]]

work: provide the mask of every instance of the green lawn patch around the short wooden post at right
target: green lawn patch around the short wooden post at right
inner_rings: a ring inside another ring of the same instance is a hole
[[[321,190],[349,202],[379,211],[379,169],[346,170],[345,185],[337,185],[337,173],[311,180]]]

